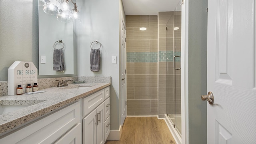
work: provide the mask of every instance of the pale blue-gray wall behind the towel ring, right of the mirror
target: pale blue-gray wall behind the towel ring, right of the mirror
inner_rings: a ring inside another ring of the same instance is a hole
[[[111,130],[118,130],[119,116],[119,0],[77,0],[81,23],[77,24],[78,76],[111,76]],[[100,50],[100,71],[90,71],[90,44],[98,40]],[[112,64],[117,56],[117,64]]]

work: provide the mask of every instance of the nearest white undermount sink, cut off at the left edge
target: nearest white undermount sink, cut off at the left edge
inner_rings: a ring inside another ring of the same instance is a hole
[[[43,101],[44,100],[2,100],[0,102],[0,115],[20,110]]]

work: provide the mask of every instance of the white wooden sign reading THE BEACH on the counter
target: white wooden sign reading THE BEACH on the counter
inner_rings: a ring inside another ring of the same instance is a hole
[[[33,62],[16,61],[8,69],[8,95],[16,95],[18,84],[21,84],[23,93],[27,84],[37,83],[37,68]]]

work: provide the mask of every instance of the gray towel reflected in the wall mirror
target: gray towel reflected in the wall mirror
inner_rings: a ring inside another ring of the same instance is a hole
[[[64,54],[62,48],[54,48],[53,52],[53,70],[58,72],[64,72]]]

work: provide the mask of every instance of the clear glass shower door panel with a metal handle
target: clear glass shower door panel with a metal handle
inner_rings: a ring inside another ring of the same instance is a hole
[[[181,4],[178,3],[166,24],[166,115],[174,137],[181,139]]]

